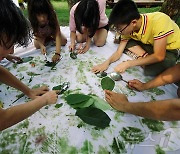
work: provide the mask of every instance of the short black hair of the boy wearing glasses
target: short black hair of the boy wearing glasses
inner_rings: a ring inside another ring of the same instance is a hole
[[[139,11],[132,0],[119,0],[110,14],[109,25],[130,24],[132,20],[139,18]]]

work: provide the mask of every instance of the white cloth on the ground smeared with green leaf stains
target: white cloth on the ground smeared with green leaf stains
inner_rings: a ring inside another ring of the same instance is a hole
[[[84,94],[93,93],[104,98],[104,92],[100,86],[100,81],[96,75],[90,72],[92,65],[101,63],[116,51],[118,45],[113,44],[114,35],[109,32],[106,45],[103,47],[91,46],[90,51],[83,55],[78,55],[76,60],[69,57],[68,45],[70,44],[69,27],[62,27],[61,31],[68,38],[68,43],[62,47],[63,59],[57,64],[56,70],[50,70],[44,66],[44,56],[40,54],[40,50],[35,50],[31,44],[27,49],[16,49],[16,55],[22,57],[33,56],[31,61],[35,63],[35,67],[31,63],[23,63],[19,65],[9,64],[6,67],[17,78],[29,87],[46,84],[51,89],[53,86],[70,82],[70,90],[81,92]],[[47,47],[48,57],[51,58],[55,47]],[[123,55],[116,63],[112,64],[107,72],[112,72],[113,67],[119,62],[130,59]],[[34,72],[40,75],[34,76],[30,82],[31,76],[27,72]],[[143,75],[141,67],[134,67],[122,74],[125,80],[140,79],[147,81],[150,77]],[[0,86],[0,101],[4,102],[4,107],[8,108],[16,99],[19,91],[9,88],[6,85]],[[122,92],[128,96],[130,101],[149,101],[175,98],[177,87],[173,84],[166,85],[155,89],[154,91],[136,92],[126,87],[126,83],[117,81],[114,91]],[[77,116],[75,110],[71,108],[59,96],[58,104],[63,104],[60,108],[55,105],[43,107],[40,111],[33,114],[28,119],[0,132],[0,140],[4,143],[0,146],[0,151],[9,150],[9,153],[113,153],[112,143],[116,141],[125,143],[125,153],[133,154],[155,154],[159,145],[165,151],[175,151],[180,153],[180,123],[163,122],[164,129],[159,132],[152,132],[146,124],[142,122],[141,117],[133,116],[126,113],[120,113],[115,110],[105,111],[111,118],[110,127],[104,130],[95,129],[93,126],[85,124]],[[21,104],[28,101],[27,97],[21,98],[12,105]],[[167,113],[171,114],[171,113]],[[157,122],[155,122],[154,126]],[[125,142],[121,133],[124,128],[135,127],[141,130],[142,134],[137,133],[126,134],[127,136],[139,140],[139,135],[143,135],[144,141],[137,144],[129,144]],[[137,135],[137,137],[136,137]],[[10,140],[8,140],[10,139]],[[31,143],[31,144],[30,144]],[[1,145],[1,144],[0,144]],[[119,145],[119,147],[121,147]],[[13,150],[13,152],[10,152]],[[122,149],[120,148],[122,152]],[[119,152],[119,153],[121,153]]]

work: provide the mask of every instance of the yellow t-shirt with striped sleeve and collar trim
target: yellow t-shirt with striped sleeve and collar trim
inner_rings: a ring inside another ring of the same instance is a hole
[[[139,32],[122,35],[121,40],[134,39],[144,44],[154,45],[154,40],[167,37],[167,50],[180,49],[180,29],[171,18],[161,12],[141,15],[142,25]]]

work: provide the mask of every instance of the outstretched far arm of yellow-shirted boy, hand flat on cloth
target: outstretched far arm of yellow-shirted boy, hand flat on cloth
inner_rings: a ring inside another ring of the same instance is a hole
[[[92,72],[97,73],[97,72],[105,71],[111,63],[117,61],[121,57],[126,47],[127,42],[128,41],[121,41],[117,51],[113,53],[112,56],[109,59],[107,59],[105,62],[103,62],[102,64],[94,66],[92,68]]]

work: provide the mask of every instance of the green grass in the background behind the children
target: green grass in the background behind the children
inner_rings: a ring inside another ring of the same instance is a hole
[[[51,1],[53,7],[56,11],[59,23],[61,26],[68,26],[69,25],[69,8],[68,4],[65,1]],[[106,14],[109,17],[112,9],[106,9]],[[151,8],[139,8],[140,13],[150,13],[159,11],[160,7],[151,7]],[[27,17],[27,10],[23,11],[24,15]],[[180,26],[180,18],[177,21],[177,24]]]

